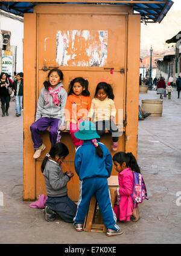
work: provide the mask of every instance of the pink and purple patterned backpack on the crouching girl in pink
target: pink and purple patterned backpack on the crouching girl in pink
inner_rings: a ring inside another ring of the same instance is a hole
[[[147,188],[144,179],[139,172],[133,171],[133,192],[131,194],[133,203],[142,203],[144,199],[148,200]]]

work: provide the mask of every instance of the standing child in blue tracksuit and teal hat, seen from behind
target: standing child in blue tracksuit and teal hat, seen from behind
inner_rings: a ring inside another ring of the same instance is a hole
[[[75,171],[80,179],[80,197],[74,217],[74,228],[82,231],[90,199],[95,194],[107,228],[107,236],[121,235],[122,229],[116,225],[116,215],[112,209],[107,185],[107,178],[112,171],[112,156],[107,147],[97,141],[100,136],[94,123],[81,122],[74,136],[84,140],[83,145],[77,148],[74,160]]]

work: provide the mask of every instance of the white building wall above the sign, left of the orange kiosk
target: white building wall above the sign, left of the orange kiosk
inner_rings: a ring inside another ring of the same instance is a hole
[[[16,19],[0,15],[0,29],[11,31],[10,45],[17,46],[16,72],[23,72],[24,23]]]

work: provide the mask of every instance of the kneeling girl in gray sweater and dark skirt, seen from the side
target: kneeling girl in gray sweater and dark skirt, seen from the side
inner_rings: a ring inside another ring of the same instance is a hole
[[[65,144],[56,143],[43,159],[41,170],[45,177],[48,199],[45,203],[45,220],[53,222],[58,214],[65,222],[72,223],[77,205],[69,199],[67,183],[74,176],[72,171],[62,171],[62,162],[69,151]]]

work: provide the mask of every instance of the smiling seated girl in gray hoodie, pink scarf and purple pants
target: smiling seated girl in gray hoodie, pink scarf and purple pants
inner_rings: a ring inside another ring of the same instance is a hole
[[[62,84],[63,73],[54,68],[48,73],[48,81],[43,83],[37,102],[35,122],[30,126],[31,137],[34,143],[34,159],[37,159],[46,148],[41,139],[41,131],[49,127],[49,140],[51,146],[60,141],[60,130],[65,122],[65,104],[67,93]]]

